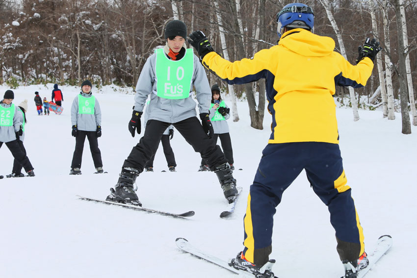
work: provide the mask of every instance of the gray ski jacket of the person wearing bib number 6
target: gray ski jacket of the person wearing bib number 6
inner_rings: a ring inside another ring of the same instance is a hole
[[[92,94],[80,93],[84,98],[91,98]],[[96,131],[97,126],[102,125],[102,110],[100,109],[99,101],[96,98],[93,114],[78,114],[78,95],[71,106],[71,124],[77,125],[78,130]]]

